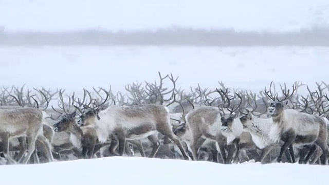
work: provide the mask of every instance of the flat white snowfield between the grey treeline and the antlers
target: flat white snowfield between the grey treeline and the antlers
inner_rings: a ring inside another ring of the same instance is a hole
[[[329,78],[326,47],[0,47],[0,56],[1,85],[67,93],[109,85],[125,91],[129,83],[158,81],[158,71],[179,76],[177,86],[187,90],[223,81],[257,93],[271,81],[315,88]]]

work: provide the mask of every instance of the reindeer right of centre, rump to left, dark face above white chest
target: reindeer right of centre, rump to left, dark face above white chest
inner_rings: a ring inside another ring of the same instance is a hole
[[[229,106],[232,98],[228,97],[227,91],[225,93],[223,90],[216,90],[221,96],[222,93],[225,94]],[[240,95],[237,96],[241,98]],[[239,113],[233,113],[239,108],[241,102],[235,109],[234,106],[228,110],[211,106],[197,107],[186,115],[186,121],[191,132],[190,149],[194,160],[197,159],[199,147],[206,139],[210,139],[218,143],[224,163],[226,164],[230,161],[231,155],[229,155],[228,160],[226,158],[225,145],[234,144],[233,146],[237,147],[237,138],[241,135],[243,128],[240,120],[237,119]],[[238,148],[236,153],[239,153]]]

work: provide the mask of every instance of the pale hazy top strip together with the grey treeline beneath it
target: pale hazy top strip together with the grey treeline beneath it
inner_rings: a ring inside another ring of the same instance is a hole
[[[0,45],[328,46],[329,1],[0,1]]]

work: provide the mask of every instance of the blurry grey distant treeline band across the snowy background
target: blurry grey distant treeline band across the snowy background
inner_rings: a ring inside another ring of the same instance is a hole
[[[190,28],[131,32],[0,32],[0,45],[329,46],[329,28],[284,33]]]

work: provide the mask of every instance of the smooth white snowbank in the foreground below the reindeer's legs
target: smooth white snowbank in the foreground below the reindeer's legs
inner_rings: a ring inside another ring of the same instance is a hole
[[[4,184],[325,184],[329,166],[107,157],[0,166]],[[18,175],[18,176],[17,176]]]

